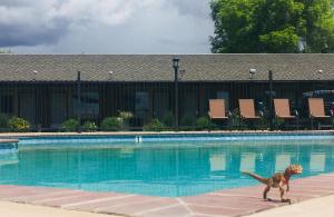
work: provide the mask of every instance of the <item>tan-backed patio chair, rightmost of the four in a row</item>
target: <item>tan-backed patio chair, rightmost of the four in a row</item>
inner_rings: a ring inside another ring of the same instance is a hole
[[[317,129],[320,129],[321,120],[331,118],[330,116],[325,115],[325,106],[323,98],[308,98],[308,112],[312,129],[314,126],[314,120],[317,120]]]

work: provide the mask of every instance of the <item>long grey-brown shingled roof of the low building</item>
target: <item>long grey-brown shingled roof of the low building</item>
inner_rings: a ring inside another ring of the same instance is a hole
[[[334,80],[334,55],[180,55],[184,81]],[[0,55],[0,81],[173,81],[171,55]],[[322,73],[318,73],[322,70]],[[110,73],[112,71],[112,73]]]

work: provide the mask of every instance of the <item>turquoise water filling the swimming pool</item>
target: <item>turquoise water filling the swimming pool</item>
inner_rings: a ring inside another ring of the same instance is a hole
[[[0,155],[0,184],[177,197],[256,185],[240,170],[266,177],[289,164],[304,167],[298,177],[334,171],[334,137],[23,139]]]

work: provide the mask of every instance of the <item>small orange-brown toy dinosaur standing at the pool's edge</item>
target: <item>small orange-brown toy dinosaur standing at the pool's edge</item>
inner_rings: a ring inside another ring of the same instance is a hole
[[[266,185],[267,187],[264,189],[263,191],[263,198],[267,199],[267,194],[271,190],[271,188],[279,188],[281,191],[281,201],[282,203],[289,203],[291,204],[291,199],[284,199],[284,193],[285,189],[284,187],[286,186],[286,193],[289,190],[289,178],[293,175],[298,175],[303,172],[303,167],[301,165],[289,165],[284,172],[276,172],[273,177],[271,178],[263,178],[256,174],[253,172],[248,172],[248,171],[242,171],[243,174],[246,174],[253,178],[255,178],[256,180],[258,180],[259,183],[263,183],[264,185]]]

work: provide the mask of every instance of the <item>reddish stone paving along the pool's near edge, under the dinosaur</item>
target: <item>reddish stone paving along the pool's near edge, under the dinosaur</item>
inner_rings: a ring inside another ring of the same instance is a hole
[[[299,203],[334,195],[333,183],[334,174],[295,179],[291,181],[291,193],[287,194],[287,197],[293,203]],[[264,201],[262,199],[263,189],[264,186],[253,186],[218,190],[198,196],[166,198],[2,185],[0,186],[0,200],[94,214],[136,217],[247,216],[286,205],[278,201],[277,189],[269,193],[273,201]]]

